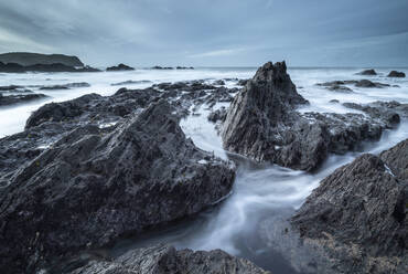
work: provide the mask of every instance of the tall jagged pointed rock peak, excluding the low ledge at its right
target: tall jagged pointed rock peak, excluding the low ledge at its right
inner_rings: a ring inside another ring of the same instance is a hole
[[[257,161],[312,170],[326,157],[329,133],[294,112],[297,93],[284,62],[269,62],[236,95],[222,130],[224,148]]]

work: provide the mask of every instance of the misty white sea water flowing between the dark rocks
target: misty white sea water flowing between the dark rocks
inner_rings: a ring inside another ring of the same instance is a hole
[[[398,101],[408,103],[408,80],[388,78],[385,75],[391,68],[376,68],[377,76],[359,76],[355,73],[362,68],[289,68],[292,82],[298,92],[311,104],[301,108],[301,112],[357,112],[343,107],[341,104],[329,103],[339,99],[340,103],[369,103],[374,101]],[[408,74],[407,68],[399,68]],[[153,71],[136,70],[130,72],[101,73],[26,73],[0,74],[0,86],[4,85],[56,85],[74,82],[87,82],[90,87],[39,91],[29,87],[35,93],[51,96],[44,101],[0,108],[0,137],[23,130],[26,118],[41,105],[50,102],[62,102],[78,97],[87,93],[111,95],[118,88],[143,88],[154,83],[178,82],[186,80],[206,80],[210,83],[219,78],[249,78],[256,67],[219,67],[196,68],[194,71]],[[357,88],[354,93],[330,92],[316,86],[316,83],[334,80],[369,78],[399,87],[387,88]],[[125,81],[149,81],[149,83],[112,86],[114,83]],[[234,81],[226,81],[227,86],[236,85]],[[218,105],[219,106],[219,105]],[[227,106],[227,104],[226,104]],[[201,116],[189,116],[181,120],[181,127],[191,137],[196,146],[214,151],[222,158],[234,159],[237,164],[237,176],[234,189],[228,199],[217,207],[206,210],[189,220],[174,222],[163,229],[158,229],[138,238],[120,241],[109,252],[112,255],[121,254],[129,249],[144,246],[159,242],[174,244],[176,247],[193,250],[223,249],[234,255],[253,260],[258,265],[273,273],[298,273],[287,260],[288,254],[273,250],[259,238],[259,224],[262,220],[279,215],[288,210],[298,209],[311,191],[319,186],[320,180],[330,175],[337,167],[352,161],[362,152],[377,154],[400,140],[408,138],[408,122],[402,119],[394,130],[386,130],[379,141],[364,144],[362,151],[353,151],[343,156],[331,156],[322,168],[314,173],[294,171],[275,165],[255,164],[244,157],[228,155],[223,150],[221,137],[217,136],[214,125],[206,119],[208,113],[202,107]]]

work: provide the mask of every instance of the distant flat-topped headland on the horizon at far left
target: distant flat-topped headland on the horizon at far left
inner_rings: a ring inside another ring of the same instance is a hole
[[[36,64],[63,64],[66,66],[84,66],[84,63],[77,56],[68,56],[64,54],[40,54],[29,52],[10,52],[0,54],[0,62],[17,63],[22,66]]]

